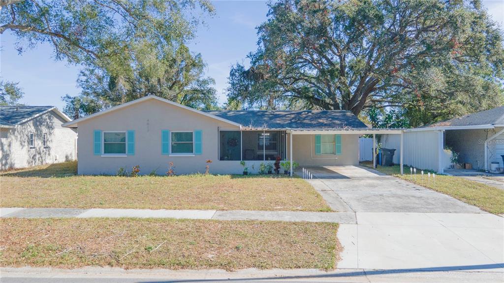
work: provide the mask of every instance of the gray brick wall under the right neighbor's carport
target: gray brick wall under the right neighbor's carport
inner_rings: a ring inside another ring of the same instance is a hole
[[[445,132],[446,146],[460,154],[461,163],[471,163],[473,169],[483,170],[485,168],[485,140],[501,129],[447,130]],[[500,157],[504,155],[504,134],[488,143],[487,155],[488,168],[491,162],[498,162],[500,167],[504,166]]]

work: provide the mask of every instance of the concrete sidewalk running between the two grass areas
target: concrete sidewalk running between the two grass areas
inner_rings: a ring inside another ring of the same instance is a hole
[[[2,218],[175,218],[213,220],[307,221],[355,224],[355,213],[254,210],[168,210],[118,208],[0,208]]]

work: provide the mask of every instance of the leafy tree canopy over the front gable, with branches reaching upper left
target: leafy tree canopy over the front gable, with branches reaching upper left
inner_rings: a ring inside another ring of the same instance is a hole
[[[65,96],[79,117],[153,94],[197,108],[216,103],[204,62],[186,43],[213,15],[207,0],[2,1],[0,34],[11,30],[19,52],[48,42],[54,57],[84,67],[83,92]]]

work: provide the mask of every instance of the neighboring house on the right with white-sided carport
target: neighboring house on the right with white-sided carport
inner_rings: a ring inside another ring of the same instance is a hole
[[[397,136],[382,135],[381,143],[399,148]],[[444,173],[451,165],[449,149],[473,170],[488,171],[492,162],[504,168],[504,106],[404,131],[405,164]]]

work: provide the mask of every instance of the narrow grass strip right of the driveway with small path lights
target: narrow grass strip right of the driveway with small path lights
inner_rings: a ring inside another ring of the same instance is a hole
[[[369,162],[363,162],[361,165],[372,168],[372,163]],[[421,177],[420,170],[417,171],[416,177],[410,176],[410,168],[407,166],[404,167],[404,175],[402,176],[399,165],[378,166],[376,169],[422,187],[448,194],[458,200],[478,206],[489,213],[504,214],[504,191],[495,187],[456,176],[437,174],[435,182],[432,177],[429,181],[427,173],[423,178]]]

